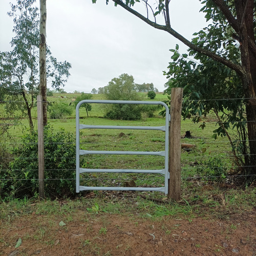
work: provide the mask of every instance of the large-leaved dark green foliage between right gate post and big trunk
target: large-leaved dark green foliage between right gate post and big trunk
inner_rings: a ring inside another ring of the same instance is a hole
[[[223,28],[222,28],[223,29]],[[207,33],[206,33],[207,32]],[[223,57],[232,56],[233,61],[239,62],[239,50],[231,38],[222,41],[228,35],[212,28],[201,30],[193,39],[193,42],[203,47],[214,48]],[[219,47],[216,47],[219,44]],[[203,45],[202,45],[203,44]],[[182,87],[183,91],[183,118],[192,118],[193,122],[199,122],[202,116],[214,112],[219,126],[214,130],[213,138],[227,136],[234,161],[237,165],[248,165],[248,145],[246,143],[246,102],[240,76],[222,63],[207,58],[205,55],[189,49],[189,55],[196,60],[191,60],[187,54],[179,53],[179,46],[170,50],[173,52],[172,62],[169,62],[168,71],[164,74],[169,78],[166,83],[166,93],[174,87]],[[199,60],[200,62],[197,62]],[[205,122],[200,127],[204,129]],[[231,133],[234,130],[236,133]],[[232,137],[232,138],[231,138]]]

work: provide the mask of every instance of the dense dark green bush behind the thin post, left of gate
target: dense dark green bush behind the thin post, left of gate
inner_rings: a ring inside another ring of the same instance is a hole
[[[63,130],[55,132],[52,127],[46,126],[44,140],[45,195],[50,198],[75,195],[75,136]],[[15,159],[8,171],[12,184],[4,190],[14,197],[33,197],[38,193],[37,142],[37,133],[32,132],[25,135],[22,145],[13,150]]]

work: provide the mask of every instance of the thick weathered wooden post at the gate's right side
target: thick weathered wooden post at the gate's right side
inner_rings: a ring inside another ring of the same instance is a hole
[[[168,198],[181,199],[181,108],[183,88],[172,88],[170,101],[170,130],[169,130],[169,182]]]

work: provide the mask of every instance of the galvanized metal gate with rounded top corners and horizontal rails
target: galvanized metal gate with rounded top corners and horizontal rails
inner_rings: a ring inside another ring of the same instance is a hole
[[[103,104],[148,104],[163,105],[166,110],[165,125],[163,126],[120,126],[120,125],[89,125],[79,123],[79,108],[83,103],[103,103]],[[170,115],[168,106],[162,101],[129,101],[129,100],[82,100],[76,106],[76,192],[82,190],[146,190],[162,191],[168,193],[168,138]],[[164,151],[141,152],[141,151],[88,151],[80,150],[80,129],[129,129],[129,130],[159,130],[165,132]],[[85,154],[105,154],[105,155],[154,155],[164,156],[164,169],[89,169],[80,168],[80,155]],[[82,173],[151,173],[164,175],[164,186],[162,187],[96,187],[80,186],[80,174]]]

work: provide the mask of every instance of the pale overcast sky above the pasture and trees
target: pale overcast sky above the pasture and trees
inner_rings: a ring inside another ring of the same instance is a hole
[[[10,51],[13,21],[7,15],[10,2],[0,0],[0,51]],[[39,0],[37,0],[39,6]],[[139,7],[139,6],[138,6]],[[170,22],[187,39],[206,26],[198,0],[170,0]],[[141,9],[143,11],[143,9]],[[161,19],[161,17],[159,16]],[[67,92],[90,93],[127,73],[135,83],[153,83],[160,92],[167,81],[163,71],[176,44],[187,47],[165,31],[145,24],[111,2],[97,0],[47,0],[47,44],[58,61],[69,61]],[[48,85],[49,87],[49,85]],[[52,89],[52,88],[50,88]]]

